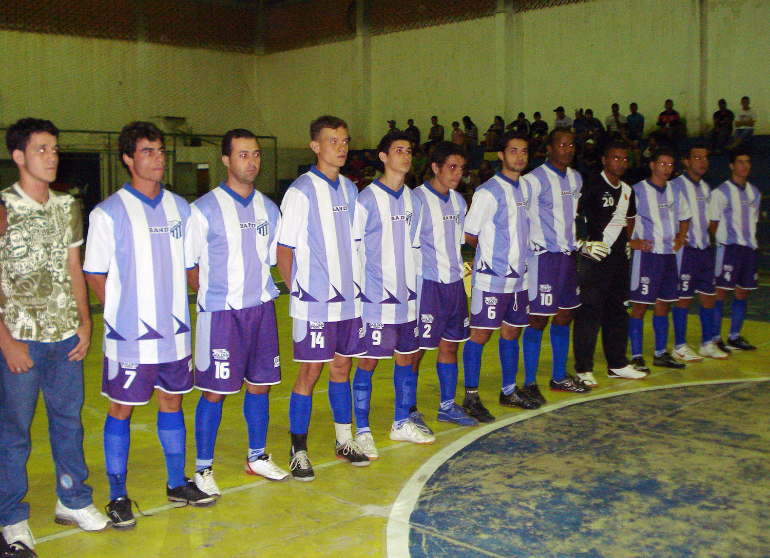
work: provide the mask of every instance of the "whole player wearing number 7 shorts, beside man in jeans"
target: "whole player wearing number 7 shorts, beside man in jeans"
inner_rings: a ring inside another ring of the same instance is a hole
[[[163,132],[132,122],[118,136],[131,182],[90,216],[83,269],[104,305],[102,395],[109,399],[104,455],[112,526],[136,526],[126,490],[129,421],[134,406],[158,399],[158,438],[166,458],[166,496],[213,506],[214,496],[186,478],[182,394],[192,390],[190,318],[184,253],[189,204],[163,189]]]

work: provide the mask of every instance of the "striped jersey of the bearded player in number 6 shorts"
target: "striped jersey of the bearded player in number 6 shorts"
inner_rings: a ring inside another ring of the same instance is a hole
[[[520,182],[500,173],[480,185],[465,216],[465,232],[478,237],[473,286],[487,292],[527,289],[527,199]]]

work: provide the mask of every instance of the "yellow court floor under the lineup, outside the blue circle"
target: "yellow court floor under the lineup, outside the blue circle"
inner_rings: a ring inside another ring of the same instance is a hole
[[[283,323],[281,349],[283,383],[271,393],[271,421],[267,449],[284,468],[288,465],[288,402],[296,365],[291,362],[291,334],[286,318],[286,298],[277,304],[279,321]],[[282,319],[283,318],[283,319]],[[100,316],[95,316],[100,321]],[[649,319],[647,319],[649,322]],[[689,338],[695,345],[699,335],[697,316],[690,317]],[[731,356],[725,362],[710,361],[689,365],[681,371],[653,369],[643,381],[608,379],[597,373],[600,386],[588,396],[551,393],[547,380],[551,373],[550,347],[544,336],[541,369],[538,382],[544,387],[548,405],[537,412],[547,412],[564,404],[581,402],[594,396],[620,393],[629,389],[674,386],[683,383],[703,383],[729,379],[768,379],[768,347],[770,330],[762,322],[746,322],[745,336],[758,345],[755,353]],[[94,332],[94,346],[85,361],[85,456],[91,469],[89,482],[94,487],[97,506],[108,500],[102,456],[102,425],[106,401],[99,395],[102,355],[99,349],[101,326]],[[651,329],[645,331],[645,351],[651,353]],[[601,344],[600,344],[601,347]],[[468,429],[437,423],[435,409],[438,383],[434,371],[435,353],[423,359],[420,371],[418,399],[420,410],[437,433],[432,446],[394,443],[387,437],[393,416],[392,363],[380,363],[373,379],[371,426],[380,447],[380,459],[369,467],[352,467],[335,459],[333,454],[333,425],[326,399],[326,378],[316,386],[313,419],[310,423],[309,453],[316,469],[311,483],[269,483],[243,473],[246,455],[246,427],[241,404],[243,396],[229,396],[225,401],[223,423],[219,429],[214,470],[223,496],[212,508],[176,509],[165,497],[166,469],[156,436],[156,405],[154,400],[136,409],[132,418],[132,440],[129,458],[129,494],[149,517],[138,517],[136,530],[119,532],[108,529],[101,533],[84,533],[53,523],[55,475],[49,443],[46,441],[46,418],[42,403],[33,424],[32,456],[28,463],[32,506],[30,525],[38,544],[40,556],[76,556],[77,558],[138,558],[141,556],[217,556],[221,558],[249,556],[388,556],[388,521],[408,520],[409,511],[393,509],[393,503],[404,500],[404,490],[420,483],[410,483],[420,466],[447,446],[463,446],[479,429]],[[603,360],[598,357],[598,372]],[[568,363],[571,366],[571,359]],[[521,368],[521,365],[520,365]],[[521,372],[520,372],[521,373]],[[462,373],[460,373],[460,389]],[[497,363],[497,342],[493,338],[484,353],[480,394],[490,411],[497,416],[498,425],[510,423],[512,417],[524,416],[521,409],[497,406],[500,389],[500,366]],[[193,417],[199,394],[186,396],[184,409],[187,423],[187,474],[192,475],[195,459]],[[590,400],[585,404],[590,405]],[[766,409],[756,409],[760,419]],[[482,426],[485,431],[494,429]],[[444,452],[446,453],[446,452]],[[408,496],[408,495],[407,495]],[[407,499],[408,500],[408,499]],[[406,519],[405,519],[406,518]],[[393,546],[395,548],[395,546]],[[393,552],[390,556],[395,556]],[[476,554],[472,554],[476,556]],[[405,556],[399,554],[399,556]]]

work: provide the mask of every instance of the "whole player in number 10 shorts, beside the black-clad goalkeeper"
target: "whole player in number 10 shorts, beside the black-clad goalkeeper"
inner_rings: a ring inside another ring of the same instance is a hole
[[[543,331],[551,316],[554,316],[551,324],[551,390],[572,393],[591,390],[580,379],[567,374],[572,310],[580,306],[575,216],[583,180],[570,168],[575,155],[575,136],[567,130],[554,129],[548,135],[546,149],[546,162],[521,177],[529,199],[527,216],[531,249],[527,261],[530,326],[524,330],[521,339],[523,391],[541,405],[545,398],[535,377]]]

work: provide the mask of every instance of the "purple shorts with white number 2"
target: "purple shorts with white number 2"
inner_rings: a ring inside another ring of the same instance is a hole
[[[420,349],[438,349],[441,339],[470,339],[468,297],[460,281],[439,283],[423,279],[420,290]]]

